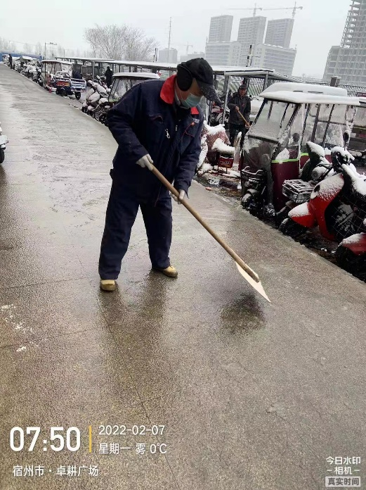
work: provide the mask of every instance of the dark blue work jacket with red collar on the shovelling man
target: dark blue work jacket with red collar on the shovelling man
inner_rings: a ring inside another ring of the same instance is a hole
[[[201,151],[203,113],[175,102],[176,76],[134,85],[108,113],[118,143],[112,178],[140,199],[157,201],[166,189],[136,162],[150,154],[155,167],[176,189],[188,188]]]

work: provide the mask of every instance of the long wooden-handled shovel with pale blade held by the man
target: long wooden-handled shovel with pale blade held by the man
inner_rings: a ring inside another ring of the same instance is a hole
[[[179,199],[179,192],[171,185],[168,180],[166,180],[164,175],[162,175],[159,170],[155,168],[154,165],[152,165],[151,171],[159,179],[159,181],[162,182],[162,184],[164,184],[164,186],[169,189],[169,191],[171,191],[171,194],[174,194],[174,196]],[[244,277],[244,279],[249,282],[249,284],[254,287],[256,291],[259,292],[259,294],[263,296],[263,298],[266,298],[266,300],[270,302],[270,299],[268,299],[268,296],[266,295],[266,292],[264,291],[261,281],[259,280],[256,272],[254,272],[254,270],[252,270],[249,265],[247,265],[244,260],[242,260],[235,253],[235,251],[233,251],[233,249],[231,249],[230,246],[228,246],[228,244],[226,244],[225,241],[223,241],[223,239],[221,239],[221,237],[219,237],[218,234],[216,234],[216,232],[214,232],[214,230],[209,227],[209,225],[207,225],[207,222],[204,222],[204,220],[202,220],[201,216],[197,213],[197,211],[195,211],[194,208],[192,208],[192,206],[190,206],[186,199],[181,201],[181,203],[196,218],[196,220],[201,223],[201,225],[209,232],[209,234],[214,237],[214,239],[223,247],[223,249],[225,249],[231,257],[233,257],[237,266],[237,270],[239,270],[242,277]]]

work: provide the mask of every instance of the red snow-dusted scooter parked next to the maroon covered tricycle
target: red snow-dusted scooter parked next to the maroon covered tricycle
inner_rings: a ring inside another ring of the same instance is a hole
[[[365,230],[366,176],[352,163],[353,156],[340,146],[332,149],[334,175],[319,182],[310,201],[296,206],[280,225],[293,238],[319,226],[323,237],[341,242]]]

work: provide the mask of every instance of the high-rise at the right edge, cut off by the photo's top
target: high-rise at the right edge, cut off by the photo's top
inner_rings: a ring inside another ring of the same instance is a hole
[[[366,86],[366,0],[351,0],[340,46],[332,46],[324,80]]]

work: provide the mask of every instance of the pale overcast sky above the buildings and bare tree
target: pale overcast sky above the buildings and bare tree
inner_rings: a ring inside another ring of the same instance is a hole
[[[213,15],[234,15],[232,40],[237,36],[240,17],[252,11],[230,11],[230,7],[251,7],[254,1],[210,0],[209,2],[173,0],[0,0],[0,37],[11,41],[36,44],[56,42],[69,49],[88,49],[84,28],[96,23],[127,23],[141,27],[155,37],[158,47],[168,45],[169,18],[172,18],[171,46],[185,54],[204,51]],[[291,7],[293,0],[256,0],[263,8]],[[341,42],[350,1],[298,0],[303,6],[295,17],[292,47],[297,47],[294,75],[322,76],[330,46]],[[225,5],[225,6],[224,6]],[[197,8],[195,8],[197,7]],[[258,12],[268,19],[291,17],[292,11]],[[22,47],[18,45],[18,47]]]

